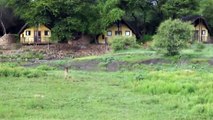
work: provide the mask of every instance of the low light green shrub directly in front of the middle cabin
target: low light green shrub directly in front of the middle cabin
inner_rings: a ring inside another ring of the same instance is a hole
[[[110,42],[110,46],[114,51],[125,50],[129,48],[137,48],[139,45],[135,37],[116,36]]]

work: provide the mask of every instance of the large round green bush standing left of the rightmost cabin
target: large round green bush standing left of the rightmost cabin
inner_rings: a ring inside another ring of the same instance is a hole
[[[154,36],[154,45],[167,55],[174,56],[191,40],[193,26],[181,20],[166,20],[161,23]]]

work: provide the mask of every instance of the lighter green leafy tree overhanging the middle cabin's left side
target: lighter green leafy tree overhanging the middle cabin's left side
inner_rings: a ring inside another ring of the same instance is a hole
[[[121,20],[124,11],[119,8],[119,0],[99,0],[91,9],[93,16],[89,18],[88,33],[96,35],[106,32],[112,23]]]

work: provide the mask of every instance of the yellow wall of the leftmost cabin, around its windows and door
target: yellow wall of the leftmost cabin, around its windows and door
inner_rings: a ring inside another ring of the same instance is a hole
[[[27,31],[30,31],[30,35],[27,35]],[[51,30],[44,25],[39,27],[30,27],[24,30],[20,34],[20,42],[23,44],[34,44],[35,43],[35,31],[41,31],[41,43],[49,43],[51,37]],[[49,31],[48,35],[45,35],[45,31]]]

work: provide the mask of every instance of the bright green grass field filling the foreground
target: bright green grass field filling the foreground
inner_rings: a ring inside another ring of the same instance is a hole
[[[1,120],[212,120],[213,46],[165,57],[137,49],[37,67],[0,64]],[[155,64],[143,63],[161,59]],[[99,61],[98,70],[56,66]],[[105,67],[125,62],[116,71]]]

